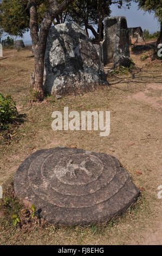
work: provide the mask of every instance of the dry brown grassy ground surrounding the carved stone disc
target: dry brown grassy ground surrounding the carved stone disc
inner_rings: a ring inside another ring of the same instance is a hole
[[[131,53],[135,63],[131,73],[108,76],[110,87],[61,100],[47,97],[31,106],[34,58],[29,48],[19,52],[4,50],[0,59],[0,92],[11,94],[16,100],[22,122],[10,131],[10,139],[0,133],[0,185],[8,187],[19,164],[38,149],[77,147],[117,157],[140,188],[141,197],[116,220],[90,227],[42,226],[35,220],[22,229],[15,228],[10,214],[0,208],[1,245],[162,244],[162,199],[157,196],[158,186],[162,185],[161,62],[151,61],[150,52],[141,61],[142,54],[146,53]],[[110,135],[100,137],[99,131],[53,131],[51,113],[63,111],[64,106],[78,112],[110,111]]]

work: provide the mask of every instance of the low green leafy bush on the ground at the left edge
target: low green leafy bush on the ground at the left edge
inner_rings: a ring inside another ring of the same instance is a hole
[[[0,93],[0,129],[7,129],[17,115],[16,102],[10,95],[5,97]]]

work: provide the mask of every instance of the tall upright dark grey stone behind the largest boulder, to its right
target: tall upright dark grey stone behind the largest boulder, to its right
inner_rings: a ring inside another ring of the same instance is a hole
[[[102,45],[103,65],[113,63],[112,68],[129,66],[129,36],[126,17],[106,17]]]

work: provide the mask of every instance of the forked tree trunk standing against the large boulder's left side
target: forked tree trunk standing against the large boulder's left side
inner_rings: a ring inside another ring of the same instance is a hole
[[[30,34],[31,38],[35,41],[35,70],[31,75],[31,86],[33,88],[33,94],[35,100],[42,101],[44,99],[43,92],[43,75],[44,75],[44,54],[46,51],[46,43],[48,32],[53,20],[66,10],[68,5],[74,0],[64,0],[60,5],[57,0],[49,0],[49,8],[44,15],[41,23],[40,36],[38,38],[36,29],[33,29],[35,23],[37,23],[37,10],[33,8],[35,6],[35,0],[30,1],[29,9],[32,16],[30,16]],[[31,4],[33,3],[33,4]],[[36,13],[35,13],[36,12]],[[32,19],[31,19],[32,17]]]

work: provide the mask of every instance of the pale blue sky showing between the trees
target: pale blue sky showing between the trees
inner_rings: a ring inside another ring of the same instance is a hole
[[[154,15],[139,10],[137,3],[132,3],[129,10],[126,8],[119,9],[117,5],[113,4],[111,10],[111,16],[126,16],[128,27],[141,27],[142,30],[148,29],[150,33],[160,30],[160,25]],[[23,40],[24,42],[31,40],[29,32],[24,34]]]

